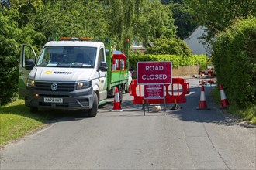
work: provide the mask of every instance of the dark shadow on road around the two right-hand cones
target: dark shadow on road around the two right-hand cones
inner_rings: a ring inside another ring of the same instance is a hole
[[[209,110],[197,110],[199,107],[201,87],[193,87],[190,89],[190,94],[186,96],[187,102],[180,104],[181,110],[170,110],[168,115],[178,118],[182,121],[195,121],[202,123],[216,123],[225,124],[227,126],[240,125],[247,128],[256,128],[254,124],[248,124],[241,121],[239,117],[235,115],[227,114],[225,110],[220,109],[213,102],[213,97],[210,96],[211,91],[214,87],[205,87],[206,103]]]

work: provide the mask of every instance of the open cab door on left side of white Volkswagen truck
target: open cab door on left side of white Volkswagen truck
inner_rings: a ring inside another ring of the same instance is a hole
[[[25,97],[26,80],[36,63],[36,53],[32,46],[22,44],[22,50],[19,58],[19,97]]]

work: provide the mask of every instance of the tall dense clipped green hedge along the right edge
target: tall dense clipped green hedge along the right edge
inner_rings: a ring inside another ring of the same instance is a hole
[[[231,104],[256,104],[256,18],[237,19],[214,43],[216,77]]]

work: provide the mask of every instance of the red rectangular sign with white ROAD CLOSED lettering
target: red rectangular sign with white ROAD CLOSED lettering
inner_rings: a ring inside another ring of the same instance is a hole
[[[171,62],[138,62],[138,84],[171,84]]]

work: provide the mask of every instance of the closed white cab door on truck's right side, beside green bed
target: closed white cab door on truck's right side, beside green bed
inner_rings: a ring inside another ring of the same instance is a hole
[[[102,61],[106,62],[106,57],[105,57],[105,50],[102,47],[99,51],[99,66],[101,65]],[[98,67],[99,67],[98,66]],[[105,100],[107,97],[107,72],[103,70],[99,70],[99,99],[100,100]]]

